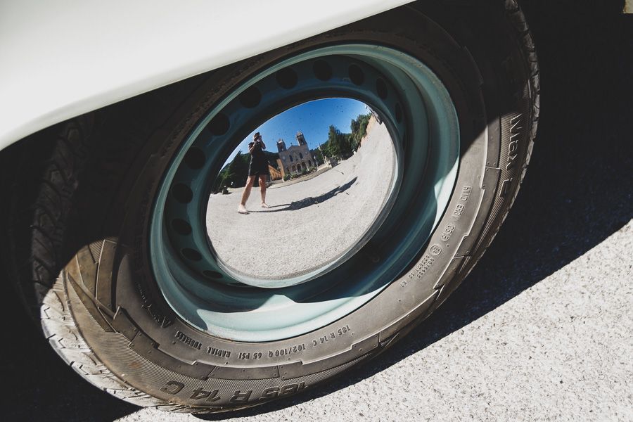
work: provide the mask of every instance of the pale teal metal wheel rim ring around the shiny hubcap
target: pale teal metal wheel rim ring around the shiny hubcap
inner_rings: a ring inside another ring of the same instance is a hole
[[[363,101],[390,132],[397,163],[384,212],[333,265],[267,286],[236,276],[207,238],[210,181],[253,128],[299,103],[330,97]],[[458,164],[452,100],[416,58],[366,44],[293,56],[231,91],[173,158],[152,210],[153,274],[174,312],[212,335],[262,342],[314,331],[362,307],[407,269],[445,212]]]

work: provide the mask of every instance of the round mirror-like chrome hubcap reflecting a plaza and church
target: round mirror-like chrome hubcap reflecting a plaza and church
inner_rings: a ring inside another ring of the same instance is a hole
[[[309,121],[313,110],[321,110],[319,121]],[[348,110],[352,115],[345,114]],[[357,133],[338,132],[328,141],[330,123],[352,122],[357,110],[366,113],[358,119],[363,127]],[[269,208],[261,207],[260,188],[255,187],[246,204],[248,215],[236,212],[248,183],[245,163],[253,167],[259,153],[251,158],[248,145],[246,154],[234,155],[224,166],[216,182],[218,193],[207,207],[207,233],[224,271],[251,286],[291,286],[335,267],[364,246],[381,222],[396,176],[394,143],[385,124],[370,112],[359,101],[328,98],[287,110],[257,128],[275,151],[267,155]],[[304,120],[284,118],[290,113]],[[271,139],[302,129],[302,124],[313,129],[310,134],[319,136],[318,141],[302,132],[294,145]],[[344,147],[338,154],[328,151],[337,143]]]

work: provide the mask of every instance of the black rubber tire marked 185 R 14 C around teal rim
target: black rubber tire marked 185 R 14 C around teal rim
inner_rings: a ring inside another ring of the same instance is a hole
[[[286,58],[345,43],[402,51],[449,93],[459,168],[437,223],[409,251],[414,260],[390,261],[397,274],[371,300],[324,326],[264,341],[200,329],[167,302],[152,267],[148,239],[167,169],[236,87]],[[535,49],[515,1],[403,6],[21,141],[9,151],[16,171],[39,170],[12,185],[6,267],[53,349],[115,397],[210,412],[294,395],[383,352],[473,269],[525,174],[538,96]]]

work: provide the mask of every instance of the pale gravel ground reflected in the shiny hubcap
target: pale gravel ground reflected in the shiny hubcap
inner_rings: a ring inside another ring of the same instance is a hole
[[[331,170],[267,189],[269,209],[252,188],[212,195],[207,231],[218,257],[240,274],[285,279],[314,271],[352,248],[378,217],[390,192],[395,152],[385,124],[373,124],[356,154]]]

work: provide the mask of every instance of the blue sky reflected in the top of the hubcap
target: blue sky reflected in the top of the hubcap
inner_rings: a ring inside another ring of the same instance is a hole
[[[253,129],[226,162],[233,160],[238,151],[248,152],[248,143],[255,132],[260,132],[267,151],[273,153],[277,152],[279,138],[286,141],[286,147],[297,145],[295,135],[298,131],[303,132],[308,147],[312,149],[328,140],[330,124],[338,127],[340,132],[349,133],[352,132],[350,121],[367,113],[369,108],[364,103],[350,98],[325,98],[300,104]]]

